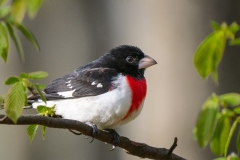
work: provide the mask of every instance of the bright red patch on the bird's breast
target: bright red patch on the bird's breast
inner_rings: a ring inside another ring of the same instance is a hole
[[[126,78],[132,91],[132,103],[126,116],[123,117],[122,120],[125,120],[127,117],[129,117],[132,114],[132,112],[137,111],[139,109],[147,92],[147,85],[146,85],[145,78],[142,78],[140,80],[135,79],[131,76],[126,76]]]

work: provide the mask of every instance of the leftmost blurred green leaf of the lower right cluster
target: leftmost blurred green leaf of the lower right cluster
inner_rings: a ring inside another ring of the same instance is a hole
[[[215,128],[217,113],[218,113],[218,99],[215,96],[210,97],[202,107],[202,110],[197,119],[197,140],[201,148],[206,147],[213,135]]]

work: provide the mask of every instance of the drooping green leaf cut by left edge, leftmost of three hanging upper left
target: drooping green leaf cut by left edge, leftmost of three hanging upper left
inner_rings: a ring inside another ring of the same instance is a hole
[[[8,42],[8,32],[6,27],[0,23],[0,57],[7,62],[9,42]]]

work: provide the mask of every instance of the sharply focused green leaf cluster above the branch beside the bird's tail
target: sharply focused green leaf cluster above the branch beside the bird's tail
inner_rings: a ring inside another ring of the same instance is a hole
[[[48,74],[43,71],[32,72],[32,73],[21,73],[19,77],[9,77],[5,81],[5,85],[11,85],[8,93],[2,99],[4,109],[7,116],[14,122],[17,122],[17,119],[22,113],[24,106],[27,106],[27,96],[28,90],[32,94],[36,94],[34,90],[37,90],[38,94],[41,95],[42,100],[46,102],[45,97],[42,94],[42,89],[44,85],[33,84],[30,80],[39,80],[47,77]],[[0,100],[1,102],[1,100]]]

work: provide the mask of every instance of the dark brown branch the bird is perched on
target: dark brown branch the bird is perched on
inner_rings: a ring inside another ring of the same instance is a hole
[[[0,115],[0,124],[10,125],[30,125],[39,124],[50,128],[62,128],[70,129],[81,132],[86,136],[92,135],[92,128],[82,122],[68,119],[51,118],[38,115],[20,116],[17,124],[14,124],[8,117],[4,118],[5,115]],[[113,135],[111,133],[99,130],[99,133],[95,136],[95,139],[109,143],[113,145]],[[184,158],[173,154],[174,148],[177,146],[177,139],[175,138],[171,149],[155,148],[144,143],[138,143],[129,140],[126,137],[120,137],[118,147],[126,150],[128,154],[138,156],[141,158],[150,158],[158,160],[185,160]]]

